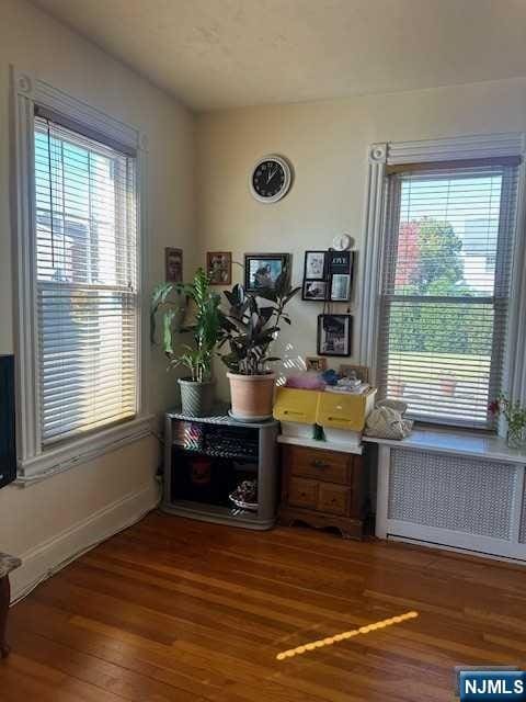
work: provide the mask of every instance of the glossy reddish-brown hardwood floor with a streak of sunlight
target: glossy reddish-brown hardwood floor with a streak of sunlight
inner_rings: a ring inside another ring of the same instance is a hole
[[[10,641],[2,702],[451,700],[456,665],[526,665],[526,568],[152,513],[12,608]]]

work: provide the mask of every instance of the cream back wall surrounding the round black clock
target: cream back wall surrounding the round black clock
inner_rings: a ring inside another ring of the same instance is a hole
[[[369,144],[524,129],[525,79],[202,115],[201,246],[232,250],[238,261],[245,251],[290,251],[299,282],[305,250],[328,248],[336,234],[351,234],[359,252]],[[259,157],[272,152],[293,162],[295,182],[279,203],[261,204],[249,192],[249,173]],[[239,267],[233,274],[241,280]],[[345,312],[346,305],[334,309]],[[293,347],[287,354],[316,354],[322,305],[296,301],[290,312],[294,326],[283,335]],[[357,349],[354,339],[353,351]],[[222,371],[218,376],[227,396]]]

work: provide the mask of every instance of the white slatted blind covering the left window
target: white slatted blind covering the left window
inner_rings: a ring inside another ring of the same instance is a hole
[[[35,116],[44,445],[137,412],[136,159]]]

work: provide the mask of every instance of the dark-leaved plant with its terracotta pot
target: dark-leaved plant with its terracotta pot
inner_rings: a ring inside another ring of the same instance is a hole
[[[228,313],[221,317],[221,339],[227,353],[219,353],[228,367],[231,415],[243,421],[263,421],[272,417],[276,374],[268,363],[279,361],[270,354],[281,324],[290,324],[285,306],[299,287],[291,287],[284,271],[272,288],[248,293],[242,285],[225,291]]]

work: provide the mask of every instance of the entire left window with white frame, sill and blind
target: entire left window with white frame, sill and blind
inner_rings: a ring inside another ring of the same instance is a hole
[[[19,479],[151,434],[146,134],[12,69]]]

